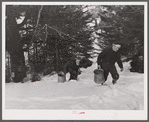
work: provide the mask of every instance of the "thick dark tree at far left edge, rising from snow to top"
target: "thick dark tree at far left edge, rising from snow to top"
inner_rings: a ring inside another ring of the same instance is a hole
[[[22,8],[22,6],[6,6],[6,50],[10,54],[12,71],[15,75],[13,80],[15,82],[19,82],[26,76],[24,52],[19,34],[22,25],[17,24],[16,21],[26,9],[27,7]]]

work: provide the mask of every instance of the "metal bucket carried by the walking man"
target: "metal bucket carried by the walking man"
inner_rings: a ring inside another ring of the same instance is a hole
[[[97,84],[101,84],[105,82],[104,78],[104,71],[102,69],[95,69],[94,70],[94,82]]]

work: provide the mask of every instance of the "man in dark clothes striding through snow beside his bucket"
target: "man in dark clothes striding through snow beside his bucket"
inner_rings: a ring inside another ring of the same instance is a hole
[[[110,72],[113,78],[112,80],[113,85],[119,79],[119,74],[117,73],[115,67],[116,62],[118,66],[121,68],[121,71],[123,71],[123,64],[120,59],[120,55],[117,52],[120,47],[121,45],[119,43],[113,43],[112,47],[105,48],[97,58],[98,68],[104,70],[105,81],[107,80],[107,77]]]

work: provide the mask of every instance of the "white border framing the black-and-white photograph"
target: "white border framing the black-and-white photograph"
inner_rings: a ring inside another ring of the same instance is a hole
[[[2,66],[5,66],[5,8],[6,5],[144,5],[144,110],[16,110],[5,109],[5,71],[2,72],[3,120],[147,120],[148,108],[148,4],[147,2],[2,2]],[[4,69],[3,69],[4,70]]]

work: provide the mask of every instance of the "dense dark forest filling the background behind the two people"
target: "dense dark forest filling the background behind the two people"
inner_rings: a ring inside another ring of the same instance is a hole
[[[130,70],[144,71],[144,6],[7,5],[5,23],[6,82],[58,73],[67,61],[93,58],[114,41],[132,60]]]

